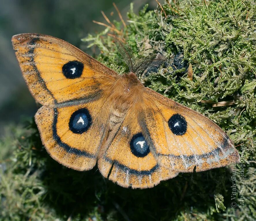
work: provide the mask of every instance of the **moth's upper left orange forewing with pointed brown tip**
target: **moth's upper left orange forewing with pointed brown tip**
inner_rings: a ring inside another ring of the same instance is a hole
[[[117,75],[75,46],[48,35],[14,35],[12,44],[31,94],[44,106],[95,99]]]

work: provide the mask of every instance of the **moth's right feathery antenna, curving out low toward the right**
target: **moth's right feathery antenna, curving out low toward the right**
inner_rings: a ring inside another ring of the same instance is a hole
[[[134,72],[145,70],[149,66],[162,64],[164,61],[166,61],[166,58],[161,54],[146,56],[135,64]]]

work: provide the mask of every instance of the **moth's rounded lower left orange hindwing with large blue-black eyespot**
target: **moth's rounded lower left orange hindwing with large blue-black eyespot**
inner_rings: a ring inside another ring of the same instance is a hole
[[[101,98],[74,106],[42,106],[35,122],[51,157],[72,169],[93,168],[107,133],[108,105]]]

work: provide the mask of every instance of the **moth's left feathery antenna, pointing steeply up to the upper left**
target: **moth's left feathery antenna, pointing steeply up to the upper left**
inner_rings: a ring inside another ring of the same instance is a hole
[[[135,68],[135,56],[131,47],[127,42],[119,36],[115,36],[115,44],[118,52],[121,54],[125,63],[128,65],[131,72],[134,72]]]

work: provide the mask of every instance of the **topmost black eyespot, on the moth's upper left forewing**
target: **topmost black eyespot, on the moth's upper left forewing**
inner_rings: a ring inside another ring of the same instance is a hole
[[[80,61],[69,61],[62,66],[62,73],[66,78],[74,79],[82,75],[84,64]]]

